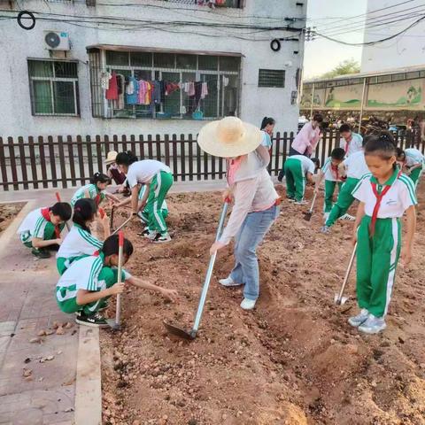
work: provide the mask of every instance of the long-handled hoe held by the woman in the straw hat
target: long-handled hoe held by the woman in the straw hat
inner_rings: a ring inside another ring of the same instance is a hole
[[[228,213],[229,202],[230,202],[229,199],[226,199],[224,201],[223,209],[221,210],[221,214],[220,214],[219,227],[217,228],[217,233],[215,234],[215,242],[217,242],[221,236],[221,232],[224,226],[224,220],[226,219],[226,214]],[[189,340],[195,339],[197,337],[197,329],[199,328],[199,323],[201,321],[202,313],[204,311],[206,294],[208,293],[208,288],[211,282],[211,276],[213,275],[213,267],[214,267],[216,257],[217,257],[217,251],[213,253],[210,259],[210,265],[208,266],[208,270],[206,272],[205,282],[202,288],[201,298],[199,299],[199,305],[197,306],[197,315],[195,316],[195,322],[193,324],[193,328],[188,332],[178,326],[174,326],[164,321],[166,330],[170,334],[179,336],[183,339],[189,339]]]

